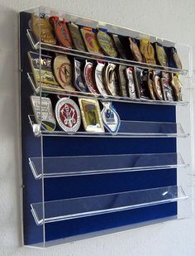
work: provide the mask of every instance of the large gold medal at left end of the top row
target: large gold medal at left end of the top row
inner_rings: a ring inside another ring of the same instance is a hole
[[[38,17],[36,14],[32,14],[31,28],[38,40],[46,44],[56,44],[53,28],[50,26],[50,22],[46,17]]]

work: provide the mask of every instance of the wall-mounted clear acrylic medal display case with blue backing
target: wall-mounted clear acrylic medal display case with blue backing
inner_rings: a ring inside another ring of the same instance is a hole
[[[146,46],[154,51],[152,61],[145,55]],[[69,74],[64,87],[55,72],[59,56],[64,58],[60,65],[65,63],[61,75]],[[20,12],[20,59],[24,245],[45,248],[191,215],[190,46],[38,7]],[[93,76],[82,84],[87,63],[92,63]],[[96,85],[92,80],[97,82],[98,64],[104,65],[102,86],[107,86],[102,91],[106,93],[99,93],[97,87],[95,92],[90,87],[79,89],[88,81]],[[126,75],[119,92],[113,86],[122,84],[116,71],[122,66],[132,71],[128,74],[134,82],[130,85]],[[140,74],[146,74],[147,80]],[[168,74],[168,85],[163,85],[162,74]],[[71,89],[66,89],[68,84]],[[136,86],[136,96],[127,85]],[[58,116],[61,99],[66,104]],[[103,108],[112,114],[104,127]],[[71,109],[69,118],[63,112],[67,109]],[[80,125],[75,130],[74,122]]]

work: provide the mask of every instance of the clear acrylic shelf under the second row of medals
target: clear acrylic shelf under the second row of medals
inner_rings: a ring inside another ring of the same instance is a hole
[[[33,75],[31,73],[27,73],[28,80],[31,83],[32,89],[35,94],[40,93],[40,87],[36,87],[36,83],[33,79]],[[165,101],[165,100],[154,100],[154,99],[132,99],[130,97],[121,97],[121,96],[112,96],[112,95],[102,95],[102,94],[91,94],[91,93],[83,93],[78,91],[66,91],[64,89],[56,89],[51,90],[46,86],[41,87],[41,94],[57,94],[64,96],[72,96],[72,97],[82,97],[88,99],[100,99],[104,101],[117,101],[117,102],[126,102],[126,103],[136,103],[136,104],[156,104],[156,105],[179,105],[186,106],[188,105],[187,101]]]

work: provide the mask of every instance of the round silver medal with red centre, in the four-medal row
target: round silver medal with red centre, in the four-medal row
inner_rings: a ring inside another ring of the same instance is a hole
[[[65,132],[76,132],[80,127],[81,114],[78,105],[69,98],[59,99],[55,106],[55,117]]]

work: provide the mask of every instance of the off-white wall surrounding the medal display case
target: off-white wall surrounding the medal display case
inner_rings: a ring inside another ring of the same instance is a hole
[[[195,46],[193,0],[0,0],[0,255],[195,255],[195,220],[86,239],[54,249],[21,248],[17,12],[39,5]]]

